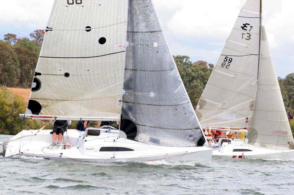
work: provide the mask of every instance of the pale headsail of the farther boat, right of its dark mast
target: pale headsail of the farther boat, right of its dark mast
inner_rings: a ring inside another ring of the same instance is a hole
[[[293,150],[293,136],[264,26],[259,69],[252,120],[246,137],[248,143],[273,150]]]

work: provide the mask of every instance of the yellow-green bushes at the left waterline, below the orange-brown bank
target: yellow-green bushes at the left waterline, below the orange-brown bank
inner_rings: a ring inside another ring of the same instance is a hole
[[[5,85],[0,85],[0,134],[15,135],[26,129],[24,121],[19,117],[26,110],[26,102],[20,95],[12,93]],[[28,120],[27,127],[38,128],[37,122]]]

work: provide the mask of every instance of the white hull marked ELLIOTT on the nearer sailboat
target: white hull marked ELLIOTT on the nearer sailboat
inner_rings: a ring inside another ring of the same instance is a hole
[[[10,139],[5,157],[24,155],[46,160],[114,162],[120,161],[196,161],[209,166],[212,149],[207,147],[166,147],[126,139],[122,131],[107,129],[68,129],[65,146],[51,148],[52,130],[23,130]],[[118,136],[120,134],[120,136]],[[56,140],[58,139],[58,136]],[[14,140],[14,141],[12,141]],[[116,151],[113,151],[113,150]],[[103,151],[104,150],[104,151]],[[122,151],[119,151],[122,150]],[[131,151],[127,151],[131,150]]]

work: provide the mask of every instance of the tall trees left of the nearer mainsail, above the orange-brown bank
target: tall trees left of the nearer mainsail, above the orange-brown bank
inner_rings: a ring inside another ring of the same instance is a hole
[[[35,30],[28,37],[6,34],[0,40],[0,84],[7,87],[29,88],[40,54],[44,33]]]

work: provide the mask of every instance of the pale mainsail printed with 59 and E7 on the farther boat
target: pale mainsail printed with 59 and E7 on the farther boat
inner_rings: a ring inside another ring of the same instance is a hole
[[[248,0],[196,108],[202,126],[248,127],[258,76],[260,2]]]

